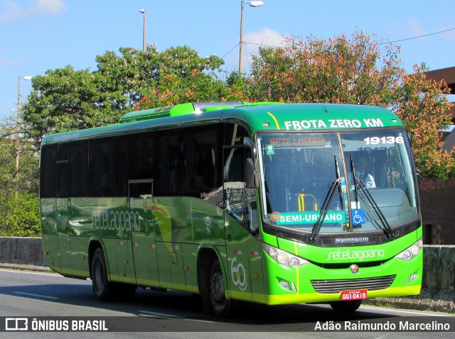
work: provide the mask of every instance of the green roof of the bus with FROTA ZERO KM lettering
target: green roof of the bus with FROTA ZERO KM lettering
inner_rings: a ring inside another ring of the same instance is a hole
[[[119,123],[110,126],[46,135],[43,138],[43,144],[215,122],[240,123],[251,133],[259,130],[330,130],[403,126],[394,113],[376,106],[271,102],[186,103],[130,112],[125,114]]]

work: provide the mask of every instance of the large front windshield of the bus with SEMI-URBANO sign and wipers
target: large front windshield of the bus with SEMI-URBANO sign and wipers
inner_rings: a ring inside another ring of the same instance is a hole
[[[261,134],[258,149],[269,225],[392,234],[419,216],[405,130]]]

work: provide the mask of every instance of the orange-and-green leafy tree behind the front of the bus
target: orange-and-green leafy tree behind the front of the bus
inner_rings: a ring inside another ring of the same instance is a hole
[[[250,101],[323,102],[382,106],[397,113],[413,135],[422,177],[455,178],[455,152],[441,149],[440,128],[450,123],[444,83],[400,67],[400,48],[355,32],[328,40],[285,37],[280,48],[260,48],[252,72],[237,88]],[[237,95],[242,98],[242,96]]]

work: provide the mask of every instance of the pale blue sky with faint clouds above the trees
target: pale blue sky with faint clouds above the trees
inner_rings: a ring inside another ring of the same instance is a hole
[[[263,1],[257,8],[245,5],[245,69],[256,44],[279,45],[289,34],[331,38],[355,30],[402,40],[396,44],[408,72],[421,62],[430,70],[455,66],[450,1]],[[96,70],[96,55],[142,48],[139,9],[146,10],[147,43],[159,50],[188,45],[202,57],[223,57],[225,70],[238,69],[240,0],[0,0],[0,118],[16,109],[19,76],[66,65]],[[21,79],[23,101],[30,89],[31,82]]]

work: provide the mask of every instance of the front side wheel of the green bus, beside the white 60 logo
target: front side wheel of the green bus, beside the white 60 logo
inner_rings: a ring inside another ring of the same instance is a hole
[[[232,301],[230,299],[226,299],[225,279],[218,260],[215,260],[212,263],[208,290],[210,295],[210,307],[215,316],[228,316]]]

